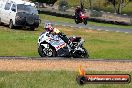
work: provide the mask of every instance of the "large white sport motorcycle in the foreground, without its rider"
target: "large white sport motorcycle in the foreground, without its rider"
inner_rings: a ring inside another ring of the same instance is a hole
[[[42,33],[38,38],[38,53],[41,57],[74,57],[88,58],[89,55],[83,47],[81,37],[68,38],[70,44],[64,42],[66,35],[53,35],[49,32]]]

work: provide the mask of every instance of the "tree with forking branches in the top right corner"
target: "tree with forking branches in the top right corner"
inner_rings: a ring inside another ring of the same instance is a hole
[[[114,7],[115,13],[121,14],[122,9],[132,0],[107,0]]]

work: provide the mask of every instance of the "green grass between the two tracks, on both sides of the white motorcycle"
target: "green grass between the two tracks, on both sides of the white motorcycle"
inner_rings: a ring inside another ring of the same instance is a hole
[[[57,27],[57,26],[56,26]],[[81,36],[91,59],[132,59],[132,35],[58,26],[68,36]],[[0,56],[39,56],[37,39],[43,32],[0,27]]]

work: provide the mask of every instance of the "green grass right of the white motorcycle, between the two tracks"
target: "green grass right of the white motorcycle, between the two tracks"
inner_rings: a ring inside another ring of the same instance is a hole
[[[71,31],[70,31],[71,30]],[[132,58],[131,34],[96,32],[83,29],[63,30],[66,34],[81,36],[90,58],[130,59]]]

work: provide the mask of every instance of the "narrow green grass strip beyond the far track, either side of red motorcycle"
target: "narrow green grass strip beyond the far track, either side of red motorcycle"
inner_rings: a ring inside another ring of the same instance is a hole
[[[45,20],[49,20],[49,21],[75,23],[73,19],[69,19],[69,18],[56,17],[56,16],[45,15],[45,14],[40,14],[40,17],[41,17],[41,19],[45,19]],[[107,23],[97,23],[97,22],[91,22],[91,21],[88,21],[88,25],[132,29],[132,26],[114,25],[114,24],[107,24]]]

